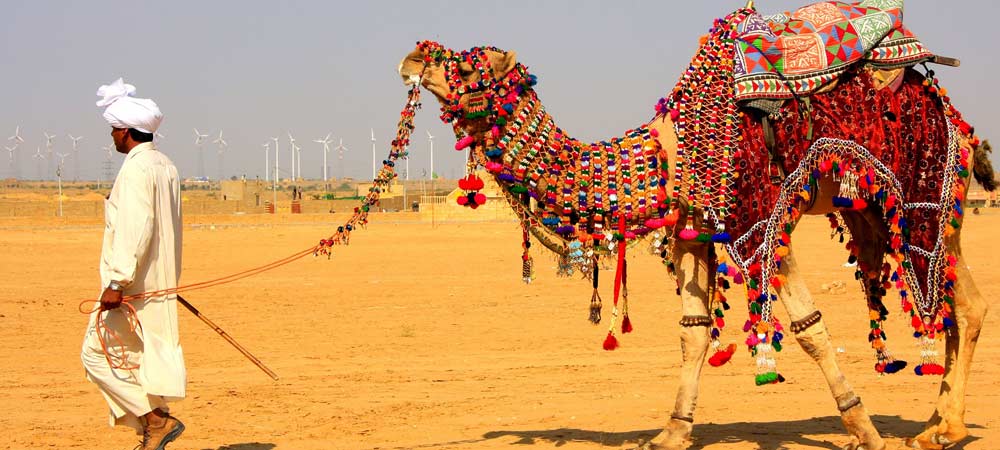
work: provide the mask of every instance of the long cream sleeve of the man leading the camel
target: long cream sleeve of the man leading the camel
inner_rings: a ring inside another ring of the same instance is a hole
[[[145,259],[152,240],[156,187],[151,174],[143,169],[134,168],[123,175],[110,272],[113,281],[129,285],[135,281],[136,269]]]

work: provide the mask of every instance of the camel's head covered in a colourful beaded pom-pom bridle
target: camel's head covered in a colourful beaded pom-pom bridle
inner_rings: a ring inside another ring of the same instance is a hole
[[[496,124],[509,113],[505,105],[516,103],[534,84],[512,51],[476,47],[456,52],[431,41],[418,43],[403,58],[399,75],[405,84],[419,82],[431,91],[441,102],[441,120],[468,134]]]

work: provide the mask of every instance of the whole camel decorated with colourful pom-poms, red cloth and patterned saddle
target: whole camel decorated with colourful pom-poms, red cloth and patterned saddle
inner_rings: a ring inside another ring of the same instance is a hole
[[[875,370],[907,367],[882,330],[883,298],[896,289],[921,345],[910,367],[943,375],[925,430],[907,441],[941,449],[968,434],[964,397],[987,310],[962,257],[963,200],[970,175],[990,189],[994,181],[992,168],[975,164],[988,159],[928,62],[948,61],[903,27],[901,0],[824,2],[768,17],[751,3],[715,21],[652,120],[595,143],[555,124],[514,52],[458,52],[425,41],[399,73],[437,97],[456,148],[471,149],[460,203],[484,201],[471,170],[482,166],[520,217],[526,280],[533,235],[559,255],[560,270],[593,279],[597,323],[598,260],[617,261],[605,349],[632,329],[626,251],[648,243],[676,277],[680,387],[663,432],[643,448],[689,445],[704,362],[724,364],[735,350],[721,344],[733,286],[746,294],[742,328],[756,383],[784,380],[775,356],[790,331],[829,383],[852,437],[848,448],[885,447],[837,366],[797,270],[795,225],[804,214],[823,214],[841,239],[849,236]],[[772,314],[778,300],[787,327]]]

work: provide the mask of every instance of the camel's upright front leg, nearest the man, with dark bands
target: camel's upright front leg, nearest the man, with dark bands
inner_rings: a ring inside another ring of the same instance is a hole
[[[710,245],[679,243],[674,248],[674,267],[681,291],[681,366],[677,401],[663,432],[642,449],[678,450],[691,444],[698,380],[710,341],[712,319],[708,313],[709,286],[713,281],[714,252]]]

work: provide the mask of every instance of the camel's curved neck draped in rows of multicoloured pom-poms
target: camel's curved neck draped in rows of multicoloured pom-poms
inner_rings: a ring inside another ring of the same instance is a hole
[[[556,125],[532,90],[501,122],[479,138],[487,169],[506,191],[533,198],[530,213],[550,230],[565,238],[603,233],[619,216],[637,230],[665,213],[666,158],[649,125],[583,143]]]

